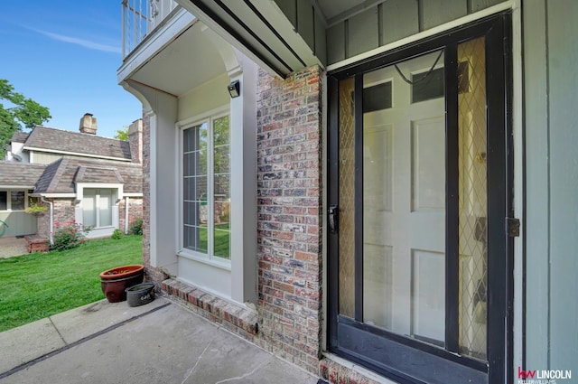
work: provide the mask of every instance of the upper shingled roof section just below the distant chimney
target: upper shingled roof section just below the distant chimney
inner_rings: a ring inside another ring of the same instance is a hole
[[[131,160],[130,144],[125,140],[65,131],[46,126],[35,126],[26,138],[24,149],[32,148],[41,152],[44,150],[68,155],[81,154],[83,156]]]

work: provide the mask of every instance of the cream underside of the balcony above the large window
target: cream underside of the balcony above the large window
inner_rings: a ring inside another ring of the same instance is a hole
[[[203,27],[193,23],[136,70],[131,80],[179,97],[226,72],[219,52],[202,33]]]

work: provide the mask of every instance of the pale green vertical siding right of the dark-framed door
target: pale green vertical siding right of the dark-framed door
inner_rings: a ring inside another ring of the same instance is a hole
[[[578,2],[526,1],[523,12],[526,367],[576,374]]]

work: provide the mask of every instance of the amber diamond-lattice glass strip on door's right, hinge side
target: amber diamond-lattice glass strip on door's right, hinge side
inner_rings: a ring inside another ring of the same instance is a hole
[[[460,352],[486,360],[487,123],[483,38],[458,46],[460,170]]]

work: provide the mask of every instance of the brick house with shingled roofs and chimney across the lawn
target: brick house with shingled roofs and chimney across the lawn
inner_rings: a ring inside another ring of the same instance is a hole
[[[0,163],[0,220],[5,236],[38,234],[74,220],[89,238],[127,232],[142,218],[142,120],[129,127],[129,140],[96,136],[97,119],[86,114],[78,132],[35,126],[16,132]],[[32,203],[49,210],[24,210]]]

